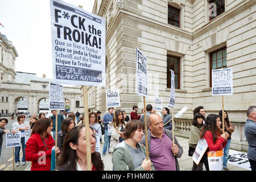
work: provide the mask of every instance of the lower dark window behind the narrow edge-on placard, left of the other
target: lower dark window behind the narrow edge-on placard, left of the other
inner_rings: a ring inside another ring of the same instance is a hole
[[[175,75],[175,88],[180,89],[180,57],[167,55],[167,88],[171,88],[171,71]]]

